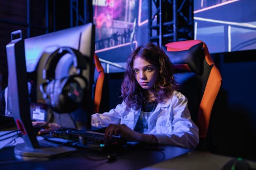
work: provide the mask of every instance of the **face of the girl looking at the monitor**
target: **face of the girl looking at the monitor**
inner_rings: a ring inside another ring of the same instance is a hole
[[[150,62],[136,56],[133,71],[137,82],[143,89],[150,89],[159,77],[159,70]]]

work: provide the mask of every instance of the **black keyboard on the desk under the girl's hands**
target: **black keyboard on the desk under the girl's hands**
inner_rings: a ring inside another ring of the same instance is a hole
[[[79,145],[95,144],[99,147],[121,147],[127,144],[127,141],[119,136],[106,139],[104,133],[88,130],[66,129],[54,131],[47,135],[48,139],[53,137],[75,141]]]

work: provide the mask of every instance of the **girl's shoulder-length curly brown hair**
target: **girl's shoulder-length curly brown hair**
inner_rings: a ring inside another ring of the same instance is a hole
[[[136,81],[133,70],[136,56],[150,62],[159,70],[159,79],[153,86],[155,101],[162,103],[169,99],[173,91],[177,89],[174,79],[174,65],[162,48],[153,43],[148,43],[137,47],[126,62],[126,71],[121,85],[121,96],[127,107],[138,109],[148,101],[148,92]]]

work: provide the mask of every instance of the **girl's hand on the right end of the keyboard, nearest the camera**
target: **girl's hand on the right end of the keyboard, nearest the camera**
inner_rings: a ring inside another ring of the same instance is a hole
[[[133,131],[126,125],[110,124],[105,130],[105,137],[112,138],[113,135],[120,135],[122,138],[126,138],[130,141],[139,141],[141,134]]]

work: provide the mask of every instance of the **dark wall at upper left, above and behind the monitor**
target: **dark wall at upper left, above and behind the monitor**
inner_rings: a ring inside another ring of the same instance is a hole
[[[46,18],[48,18],[48,23]],[[3,72],[2,86],[7,86],[6,45],[11,40],[11,32],[22,30],[23,38],[29,38],[66,28],[70,28],[69,1],[48,1],[48,5],[44,0],[0,1],[0,70]]]

